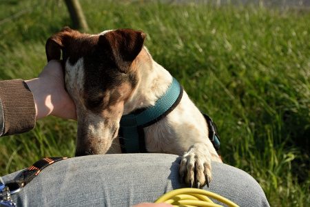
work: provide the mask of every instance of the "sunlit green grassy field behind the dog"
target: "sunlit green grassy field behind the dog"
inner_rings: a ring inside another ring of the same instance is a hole
[[[249,172],[271,206],[310,204],[310,12],[247,6],[81,1],[93,33],[136,28],[216,121],[225,163]],[[45,41],[71,21],[63,1],[0,2],[0,79],[36,77]],[[74,155],[76,122],[54,117],[0,139],[0,175]]]

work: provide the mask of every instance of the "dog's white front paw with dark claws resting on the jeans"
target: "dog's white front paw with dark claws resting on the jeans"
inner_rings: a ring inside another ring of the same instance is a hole
[[[204,144],[194,144],[185,152],[180,162],[180,180],[191,188],[201,188],[205,185],[209,188],[211,175],[211,155]]]

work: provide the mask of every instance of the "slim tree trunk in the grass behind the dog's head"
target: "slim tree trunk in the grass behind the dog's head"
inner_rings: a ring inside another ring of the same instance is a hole
[[[79,0],[65,0],[65,5],[70,13],[73,28],[86,32],[88,30],[88,25]]]

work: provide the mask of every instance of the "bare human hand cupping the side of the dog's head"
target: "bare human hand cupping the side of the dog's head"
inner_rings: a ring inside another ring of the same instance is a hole
[[[76,119],[76,108],[65,90],[63,69],[59,61],[49,61],[39,77],[25,82],[34,96],[37,119],[48,115]]]

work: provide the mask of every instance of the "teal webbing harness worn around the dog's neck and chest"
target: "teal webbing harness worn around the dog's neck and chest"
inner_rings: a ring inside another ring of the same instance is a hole
[[[150,126],[166,117],[172,112],[180,99],[182,99],[183,88],[173,78],[165,94],[156,101],[154,106],[143,110],[136,110],[128,115],[123,115],[120,121],[119,141],[123,153],[147,152],[145,148],[145,135],[143,128]],[[209,139],[216,150],[220,148],[220,139],[211,118],[204,115],[209,126]],[[211,136],[211,137],[210,137]]]

